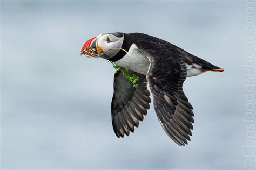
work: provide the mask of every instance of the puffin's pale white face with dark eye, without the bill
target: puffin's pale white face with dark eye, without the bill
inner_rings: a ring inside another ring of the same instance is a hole
[[[116,37],[113,34],[103,34],[97,37],[99,37],[97,48],[100,47],[102,49],[101,53],[104,54],[100,57],[104,59],[109,59],[116,55],[120,51],[118,48],[122,47],[124,41],[124,35],[122,37]]]

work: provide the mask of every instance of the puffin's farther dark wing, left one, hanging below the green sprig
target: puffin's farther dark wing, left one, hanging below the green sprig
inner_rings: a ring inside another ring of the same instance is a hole
[[[147,90],[147,79],[143,74],[130,71],[139,77],[138,87],[124,77],[121,72],[114,74],[114,94],[111,104],[112,125],[117,137],[129,136],[134,132],[134,126],[138,127],[139,121],[150,108],[150,92]]]

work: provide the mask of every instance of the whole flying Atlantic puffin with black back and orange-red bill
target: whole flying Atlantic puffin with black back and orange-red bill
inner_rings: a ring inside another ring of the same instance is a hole
[[[143,33],[99,34],[85,42],[81,54],[99,56],[139,77],[138,87],[133,87],[120,71],[114,74],[111,114],[118,138],[129,136],[147,115],[149,84],[159,122],[180,146],[190,140],[194,123],[193,107],[183,91],[186,77],[224,71],[170,42]]]

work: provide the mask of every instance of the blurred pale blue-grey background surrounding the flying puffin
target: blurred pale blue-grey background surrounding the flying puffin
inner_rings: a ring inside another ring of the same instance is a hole
[[[244,169],[246,1],[1,1],[1,167]],[[112,130],[113,73],[80,56],[107,32],[142,32],[225,68],[188,78],[194,130],[175,144],[151,109]]]

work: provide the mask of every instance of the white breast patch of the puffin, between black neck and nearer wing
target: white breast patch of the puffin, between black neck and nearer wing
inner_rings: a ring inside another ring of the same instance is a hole
[[[134,72],[140,74],[147,74],[147,70],[149,70],[150,61],[149,59],[139,51],[138,47],[135,44],[132,44],[128,53],[125,56],[114,62],[118,66],[133,70]]]

